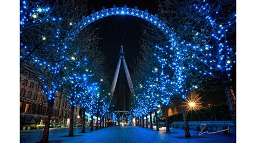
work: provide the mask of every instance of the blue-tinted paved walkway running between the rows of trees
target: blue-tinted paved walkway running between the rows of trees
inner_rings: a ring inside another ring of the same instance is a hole
[[[75,128],[75,137],[65,137],[68,135],[68,128],[51,128],[50,142],[235,142],[234,135],[203,134],[198,136],[198,131],[191,130],[193,138],[184,138],[184,130],[171,128],[171,133],[166,134],[165,128],[160,131],[150,130],[136,126],[130,127],[107,127],[90,132],[86,128],[86,133],[79,133],[81,128]],[[37,142],[42,136],[43,130],[21,131],[21,142]]]

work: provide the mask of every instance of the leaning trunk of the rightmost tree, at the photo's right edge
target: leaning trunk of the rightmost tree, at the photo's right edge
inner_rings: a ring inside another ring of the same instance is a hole
[[[223,76],[223,85],[225,88],[228,108],[230,109],[230,115],[234,122],[234,125],[236,126],[237,125],[236,101],[235,101],[234,92],[230,83],[230,78],[228,78],[227,75]]]

